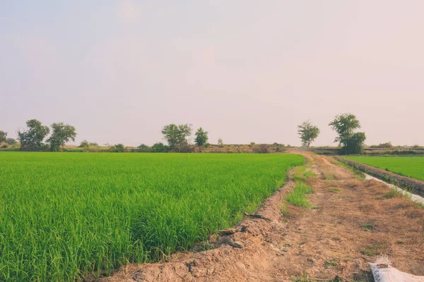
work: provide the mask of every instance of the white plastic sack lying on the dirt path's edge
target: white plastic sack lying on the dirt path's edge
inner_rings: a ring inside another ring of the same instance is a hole
[[[370,264],[375,282],[424,282],[424,276],[399,271],[390,264]]]

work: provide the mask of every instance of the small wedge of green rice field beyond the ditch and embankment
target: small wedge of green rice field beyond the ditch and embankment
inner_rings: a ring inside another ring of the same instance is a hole
[[[346,157],[401,176],[424,180],[424,157]]]

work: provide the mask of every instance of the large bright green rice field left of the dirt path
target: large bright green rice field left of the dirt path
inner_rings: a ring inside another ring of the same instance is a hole
[[[0,152],[0,281],[78,281],[189,250],[257,209],[304,162],[295,154]]]

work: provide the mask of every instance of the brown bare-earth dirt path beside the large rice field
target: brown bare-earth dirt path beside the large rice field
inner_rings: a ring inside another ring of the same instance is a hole
[[[312,208],[287,204],[289,182],[257,214],[218,236],[216,248],[169,262],[123,267],[102,281],[372,281],[367,262],[387,255],[401,271],[424,275],[424,209],[389,188],[358,180],[329,157],[302,152],[317,173]]]

